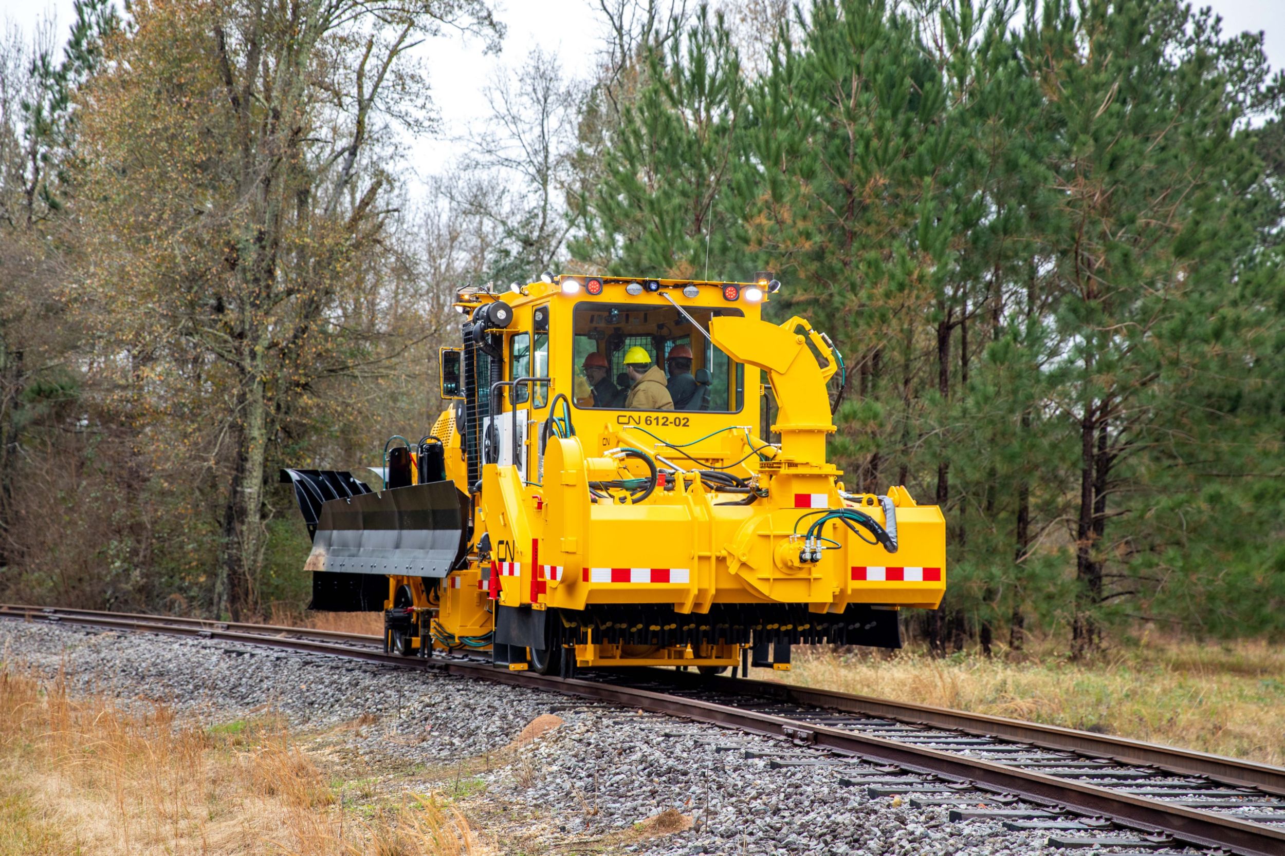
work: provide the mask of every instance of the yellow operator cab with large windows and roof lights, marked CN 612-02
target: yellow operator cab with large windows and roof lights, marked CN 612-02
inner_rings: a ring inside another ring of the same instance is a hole
[[[767,280],[550,276],[504,300],[461,291],[464,345],[443,349],[441,361],[442,395],[459,400],[461,489],[475,493],[487,463],[517,465],[528,486],[542,484],[551,432],[610,449],[654,444],[648,432],[664,429],[678,457],[709,466],[741,459],[747,422],[761,421],[759,370],[713,344],[711,325],[758,320],[772,290]],[[738,472],[748,476],[757,458],[745,463]]]

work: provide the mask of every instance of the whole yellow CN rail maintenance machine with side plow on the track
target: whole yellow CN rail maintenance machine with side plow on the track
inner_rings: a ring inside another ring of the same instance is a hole
[[[826,462],[829,338],[753,282],[544,275],[464,289],[447,409],[384,447],[382,489],[284,470],[312,608],[383,611],[389,651],[496,666],[789,669],[795,644],[901,644],[937,608],[946,525]],[[419,431],[409,432],[415,436]]]

